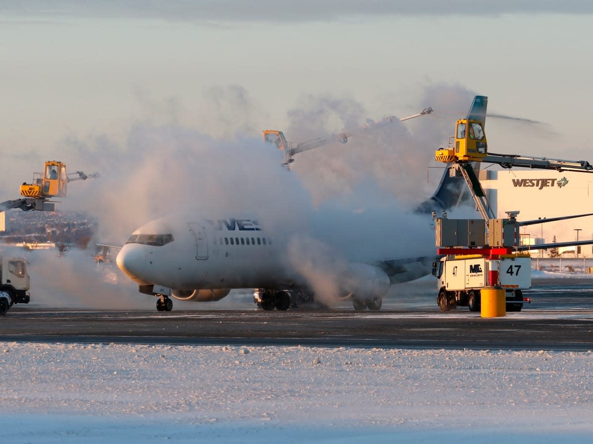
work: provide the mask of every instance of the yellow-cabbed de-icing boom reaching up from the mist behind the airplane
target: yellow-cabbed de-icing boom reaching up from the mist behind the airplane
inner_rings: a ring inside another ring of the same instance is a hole
[[[271,144],[275,145],[278,149],[284,151],[283,165],[288,167],[289,164],[294,162],[295,154],[302,153],[302,152],[308,151],[308,150],[312,150],[314,148],[317,148],[317,147],[320,147],[323,145],[329,145],[331,143],[336,143],[336,142],[346,143],[348,141],[349,137],[354,136],[355,134],[361,134],[364,131],[374,130],[375,128],[381,128],[381,127],[387,126],[389,124],[392,124],[394,122],[403,122],[405,120],[410,120],[410,119],[413,119],[416,117],[420,117],[421,115],[428,115],[428,114],[431,114],[432,111],[433,111],[432,108],[428,107],[428,108],[425,108],[424,110],[418,112],[417,114],[409,115],[407,117],[397,118],[397,117],[391,116],[391,117],[384,118],[383,120],[380,120],[378,122],[367,123],[363,126],[355,128],[353,130],[346,130],[346,131],[342,131],[342,133],[331,134],[331,136],[320,137],[318,139],[307,140],[307,141],[299,142],[299,143],[286,141],[286,138],[284,137],[284,134],[282,133],[282,131],[278,131],[278,130],[263,130],[262,137],[263,137],[264,142],[271,143]]]

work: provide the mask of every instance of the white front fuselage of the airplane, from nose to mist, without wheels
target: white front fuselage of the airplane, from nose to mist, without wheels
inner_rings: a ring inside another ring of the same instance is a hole
[[[161,218],[132,233],[117,265],[141,285],[280,288],[296,278],[284,265],[281,248],[250,218]]]

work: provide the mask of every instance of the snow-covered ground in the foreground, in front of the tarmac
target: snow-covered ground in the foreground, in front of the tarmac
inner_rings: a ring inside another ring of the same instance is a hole
[[[593,353],[0,342],[0,442],[591,442]]]

